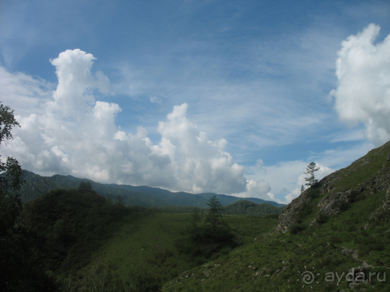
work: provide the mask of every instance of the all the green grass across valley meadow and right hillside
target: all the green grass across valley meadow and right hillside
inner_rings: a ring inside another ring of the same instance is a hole
[[[372,291],[390,291],[383,281],[384,273],[390,274],[390,219],[389,210],[382,208],[389,199],[389,152],[390,145],[375,149],[336,172],[328,193],[321,194],[321,188],[308,190],[309,199],[299,209],[297,224],[290,232],[270,235],[277,216],[224,216],[240,244],[220,251],[214,260],[198,262],[180,254],[176,246],[185,236],[190,214],[133,214],[92,255],[87,266],[69,276],[81,280],[103,265],[123,280],[133,271],[156,274],[164,292],[350,292],[346,275],[364,260],[367,277],[373,276],[370,283],[362,283],[354,291],[369,286]],[[320,213],[319,202],[325,196],[338,200],[340,195],[348,199],[340,203],[340,213]],[[345,248],[353,251],[345,255]],[[358,252],[352,256],[354,251]],[[309,272],[313,281],[304,282]]]

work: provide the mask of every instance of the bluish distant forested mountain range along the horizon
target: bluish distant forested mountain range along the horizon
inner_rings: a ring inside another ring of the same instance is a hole
[[[194,206],[199,208],[207,208],[207,202],[214,195],[221,202],[222,206],[233,204],[239,200],[247,200],[256,204],[271,204],[276,207],[284,207],[286,205],[279,204],[275,201],[265,201],[257,198],[238,198],[234,196],[220,195],[214,193],[190,194],[186,192],[171,192],[157,187],[149,186],[132,186],[125,184],[106,184],[96,183],[88,179],[80,179],[71,175],[53,175],[51,177],[43,177],[31,171],[24,170],[24,179],[26,183],[17,193],[23,203],[32,201],[39,196],[54,189],[70,189],[77,188],[81,181],[90,182],[92,188],[104,197],[110,197],[117,200],[120,195],[127,206],[139,205],[145,207],[161,207],[161,206]]]

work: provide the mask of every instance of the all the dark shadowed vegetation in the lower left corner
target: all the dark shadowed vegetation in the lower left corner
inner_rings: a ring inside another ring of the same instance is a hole
[[[90,183],[80,183],[77,189],[46,193],[14,213],[13,222],[0,228],[0,290],[28,292],[66,291],[59,274],[87,265],[124,216],[139,217],[150,210],[125,207],[98,195]],[[142,281],[139,275],[132,279]]]

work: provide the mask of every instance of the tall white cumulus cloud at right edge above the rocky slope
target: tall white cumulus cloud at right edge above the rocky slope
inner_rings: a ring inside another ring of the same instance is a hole
[[[341,43],[336,62],[335,109],[351,126],[365,125],[376,146],[390,139],[390,35],[374,44],[380,27],[371,23]]]

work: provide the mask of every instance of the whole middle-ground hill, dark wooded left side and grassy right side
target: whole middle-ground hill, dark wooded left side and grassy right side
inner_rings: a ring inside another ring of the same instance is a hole
[[[98,195],[89,182],[53,190],[24,204],[8,235],[1,237],[0,287],[12,292],[95,291],[99,281],[104,291],[160,291],[183,270],[228,254],[276,222],[222,218],[222,206],[215,197],[214,202],[215,213],[208,209],[201,214],[197,208],[169,214],[125,207]],[[118,266],[123,270],[117,271]]]

